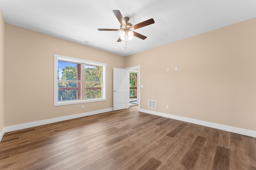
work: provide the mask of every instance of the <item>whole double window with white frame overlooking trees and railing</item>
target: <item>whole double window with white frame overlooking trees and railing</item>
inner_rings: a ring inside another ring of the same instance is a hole
[[[54,55],[54,106],[106,100],[106,64]]]

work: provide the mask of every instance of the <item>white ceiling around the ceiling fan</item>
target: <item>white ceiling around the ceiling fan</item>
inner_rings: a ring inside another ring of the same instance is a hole
[[[6,23],[128,56],[255,18],[256,0],[0,0],[0,9]],[[155,23],[136,29],[145,40],[116,42],[118,31],[97,29],[120,28],[112,10]]]

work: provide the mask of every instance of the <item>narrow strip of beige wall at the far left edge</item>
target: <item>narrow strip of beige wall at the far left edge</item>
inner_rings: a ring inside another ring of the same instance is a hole
[[[4,129],[4,27],[0,10],[0,133]]]

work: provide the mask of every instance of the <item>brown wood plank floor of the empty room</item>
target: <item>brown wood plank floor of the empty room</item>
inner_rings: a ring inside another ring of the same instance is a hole
[[[256,170],[256,138],[133,106],[5,133],[0,169]]]

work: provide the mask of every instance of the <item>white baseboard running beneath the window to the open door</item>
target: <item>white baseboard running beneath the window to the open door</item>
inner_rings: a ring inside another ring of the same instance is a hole
[[[46,125],[46,124],[49,124],[49,123],[55,123],[55,122],[59,122],[59,121],[65,121],[65,120],[75,119],[75,118],[79,118],[79,117],[95,115],[95,114],[99,114],[99,113],[105,113],[105,112],[108,112],[108,111],[113,111],[113,108],[96,110],[96,111],[89,111],[89,112],[86,112],[86,113],[79,113],[79,114],[75,114],[75,115],[56,117],[56,118],[53,118],[53,119],[46,119],[46,120],[34,121],[34,122],[24,123],[24,124],[19,124],[19,125],[7,126],[7,127],[4,127],[4,129],[2,130],[2,132],[0,134],[0,141],[2,140],[2,137],[4,136],[4,133],[6,133],[6,132],[17,131],[17,130],[26,129],[26,128],[29,128],[29,127]]]

